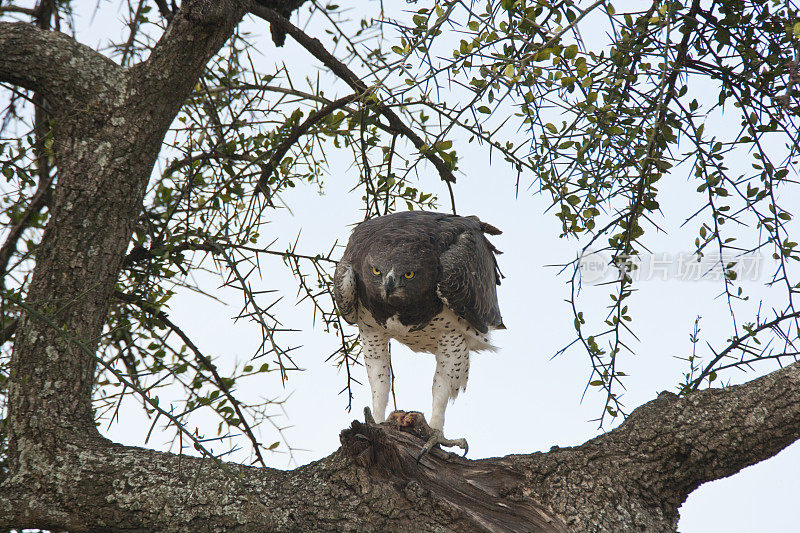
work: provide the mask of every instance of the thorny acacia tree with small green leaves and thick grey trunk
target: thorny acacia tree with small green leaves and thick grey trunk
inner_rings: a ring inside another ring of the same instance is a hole
[[[602,0],[440,2],[408,22],[387,16],[356,29],[337,6],[302,4],[141,0],[129,4],[127,38],[103,53],[59,31],[69,2],[0,5],[5,18],[24,19],[0,22],[3,127],[16,137],[0,146],[0,526],[674,530],[701,483],[800,438],[797,363],[712,387],[725,370],[796,353],[798,253],[780,202],[797,149],[800,23],[791,4],[655,0],[617,12]],[[298,9],[325,21],[327,46],[289,22]],[[245,16],[266,20],[276,44],[299,43],[344,96],[299,90],[286,67],[256,71]],[[584,41],[599,20],[609,40]],[[461,89],[441,97],[447,84]],[[705,132],[723,110],[741,128]],[[520,126],[525,142],[508,133]],[[427,165],[451,186],[458,139],[499,151],[520,180],[552,195],[563,236],[584,251],[602,241],[619,267],[610,311],[597,321],[579,308],[580,257],[567,270],[570,346],[588,354],[604,413],[624,414],[616,391],[634,335],[632,273],[646,230],[657,227],[665,176],[688,173],[707,199],[691,223],[698,256],[719,252],[730,339],[690,358],[682,397],[664,393],[576,448],[479,461],[437,451],[417,464],[413,428],[367,417],[332,456],[291,472],[266,468],[262,453],[280,444],[262,444],[257,426],[271,406],[240,400],[234,385],[296,366],[284,326],[251,286],[259,261],[275,256],[296,274],[339,336],[338,364],[349,369],[357,353],[329,297],[330,252],[263,245],[281,192],[322,186],[325,151],[349,150],[366,217],[430,207],[436,199],[412,173]],[[749,173],[742,154],[754,160]],[[786,301],[741,322],[736,257],[762,249]],[[191,276],[198,269],[224,276],[241,293],[240,316],[262,332],[252,360],[229,375],[167,312],[179,288],[206,290]],[[164,383],[183,389],[181,411],[159,405]],[[97,421],[113,417],[125,394],[201,457],[102,438]],[[208,451],[188,429],[198,410],[219,417],[221,435],[249,442],[262,467]]]

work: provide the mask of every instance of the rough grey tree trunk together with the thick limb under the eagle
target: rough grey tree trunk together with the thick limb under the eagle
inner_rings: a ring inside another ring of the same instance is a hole
[[[0,80],[50,104],[58,182],[11,362],[0,529],[674,531],[701,483],[800,438],[800,364],[663,393],[575,448],[470,461],[354,422],[290,472],[121,446],[91,416],[95,350],[163,137],[249,4],[185,0],[123,69],[69,37],[0,23]],[[44,319],[42,318],[44,317]]]

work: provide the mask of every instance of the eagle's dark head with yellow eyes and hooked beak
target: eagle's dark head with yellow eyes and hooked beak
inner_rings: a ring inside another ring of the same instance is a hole
[[[404,308],[426,300],[435,291],[435,269],[419,249],[399,247],[371,253],[362,265],[367,294],[392,307]]]

